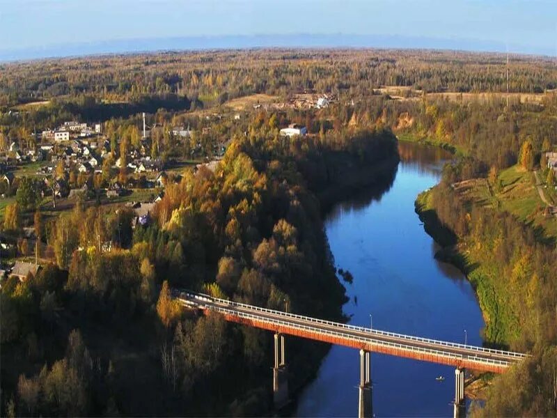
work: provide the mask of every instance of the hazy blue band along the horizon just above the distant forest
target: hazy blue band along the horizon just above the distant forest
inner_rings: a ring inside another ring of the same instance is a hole
[[[306,41],[288,43],[285,40],[295,40],[306,37]],[[273,38],[282,38],[282,42],[268,42]],[[319,40],[329,39],[330,43]],[[352,42],[348,38],[351,38]],[[154,45],[159,42],[201,41],[198,45]],[[211,41],[244,40],[256,41],[250,45],[202,45]],[[257,41],[263,44],[258,44]],[[369,45],[361,44],[367,40]],[[312,41],[314,43],[312,43]],[[340,42],[342,41],[342,42]],[[377,45],[386,42],[391,45]],[[397,42],[418,42],[422,45],[392,45]],[[426,45],[433,42],[437,45]],[[133,45],[140,43],[143,45]],[[463,45],[468,43],[469,46]],[[150,44],[150,45],[149,45]],[[461,44],[461,45],[458,45]],[[104,49],[102,49],[104,47]],[[499,49],[501,48],[501,49]],[[503,49],[504,48],[504,49]],[[77,51],[77,49],[86,49]],[[87,50],[89,49],[89,50]],[[132,55],[132,54],[157,54],[161,52],[198,52],[210,50],[249,50],[249,49],[402,49],[402,50],[429,50],[446,52],[464,52],[476,54],[513,54],[518,56],[531,56],[545,59],[556,58],[557,52],[549,54],[549,47],[536,47],[527,52],[525,45],[508,45],[499,40],[482,40],[473,38],[435,38],[430,36],[403,36],[382,34],[351,34],[351,33],[261,33],[261,34],[228,34],[228,35],[196,35],[196,36],[171,36],[155,38],[115,38],[111,40],[95,40],[91,42],[68,42],[45,46],[29,46],[22,48],[0,49],[0,63],[16,63],[28,61],[42,61],[49,59],[76,59],[90,56]],[[534,52],[535,51],[535,52]]]

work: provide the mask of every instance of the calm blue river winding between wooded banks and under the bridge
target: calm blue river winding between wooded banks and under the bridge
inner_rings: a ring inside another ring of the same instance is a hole
[[[435,260],[437,245],[414,212],[416,196],[437,184],[450,154],[406,142],[399,150],[389,190],[379,198],[374,191],[354,196],[325,217],[336,267],[354,277],[345,284],[345,314],[354,325],[481,345],[484,323],[471,285],[452,265]],[[373,353],[371,376],[377,417],[453,414],[452,367]],[[296,415],[357,416],[358,383],[358,350],[333,346],[299,396]]]

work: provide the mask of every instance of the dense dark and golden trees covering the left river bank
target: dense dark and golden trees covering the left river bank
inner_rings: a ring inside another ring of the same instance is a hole
[[[316,194],[343,185],[339,161],[379,167],[369,183],[384,170],[392,180],[398,162],[389,130],[285,139],[269,118],[214,173],[169,184],[149,226],[80,204],[46,226],[56,265],[2,287],[3,415],[267,410],[269,335],[187,314],[169,287],[340,320],[344,288]],[[317,366],[310,346],[289,346],[295,385]]]

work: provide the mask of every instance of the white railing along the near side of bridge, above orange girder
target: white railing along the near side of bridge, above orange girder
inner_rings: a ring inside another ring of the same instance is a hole
[[[207,302],[213,302],[212,297],[209,296],[210,299],[207,299]],[[196,299],[200,299],[199,297],[197,297]],[[180,301],[183,304],[188,304],[187,300],[184,299],[180,299]],[[246,319],[251,319],[251,320],[258,320],[261,321],[262,318],[261,316],[258,316],[256,314],[251,314],[249,312],[246,311],[238,311],[237,309],[230,309],[228,307],[222,307],[219,306],[217,304],[212,304],[211,306],[207,305],[207,309],[210,309],[211,311],[216,311],[219,312],[221,314],[229,314],[229,315],[233,315],[233,316],[237,316],[239,318],[246,318]],[[462,355],[462,354],[457,354],[457,353],[451,353],[450,351],[446,351],[446,350],[437,350],[434,348],[427,348],[427,347],[422,347],[422,346],[410,346],[408,344],[403,344],[403,343],[395,343],[393,341],[384,341],[384,340],[377,340],[374,339],[372,337],[366,337],[366,336],[356,336],[354,334],[349,334],[347,332],[342,332],[342,331],[335,331],[335,330],[329,330],[327,328],[320,328],[320,327],[313,327],[311,325],[304,325],[301,323],[292,323],[290,321],[287,320],[283,320],[283,319],[275,319],[275,318],[265,318],[265,321],[268,323],[272,323],[273,325],[278,325],[278,326],[283,326],[283,327],[288,327],[291,329],[295,329],[295,330],[304,330],[304,331],[309,331],[309,332],[315,332],[317,334],[325,334],[325,335],[329,335],[329,336],[336,336],[338,338],[342,338],[342,339],[346,339],[346,340],[350,340],[350,341],[355,341],[356,343],[363,343],[363,344],[371,344],[371,345],[375,345],[375,346],[382,346],[382,347],[388,347],[388,348],[397,348],[398,350],[405,350],[409,353],[423,353],[423,354],[427,354],[427,355],[437,355],[439,357],[444,357],[446,359],[455,359],[455,360],[466,360],[468,362],[474,362],[477,364],[491,364],[494,366],[509,366],[510,362],[507,362],[505,360],[499,360],[499,359],[492,359],[492,358],[486,358],[486,357],[478,357],[477,355]]]

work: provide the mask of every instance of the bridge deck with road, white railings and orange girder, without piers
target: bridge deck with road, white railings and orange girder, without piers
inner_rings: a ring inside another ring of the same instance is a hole
[[[466,369],[502,373],[510,364],[527,357],[525,354],[510,351],[370,330],[366,327],[217,299],[200,293],[174,290],[172,296],[187,307],[202,309],[205,313],[219,312],[226,320],[263,330]]]

